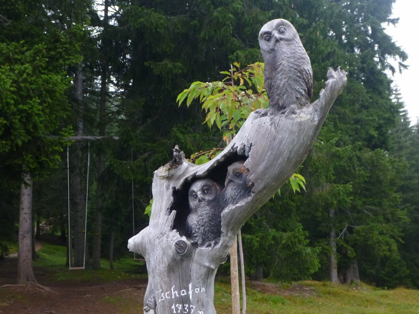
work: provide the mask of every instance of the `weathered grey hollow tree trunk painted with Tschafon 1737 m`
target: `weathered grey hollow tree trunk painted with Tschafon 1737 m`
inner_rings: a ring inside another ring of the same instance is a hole
[[[150,224],[129,239],[130,250],[145,257],[148,286],[144,311],[171,314],[214,314],[214,278],[246,220],[277,192],[301,165],[336,97],[346,84],[346,73],[329,70],[318,100],[299,111],[251,113],[232,142],[215,159],[194,165],[174,150],[174,160],[153,178]],[[251,195],[229,204],[221,214],[221,237],[214,246],[197,247],[184,235],[189,215],[188,191],[197,178],[221,185],[227,167],[238,160],[253,182]],[[193,311],[193,313],[192,313]]]

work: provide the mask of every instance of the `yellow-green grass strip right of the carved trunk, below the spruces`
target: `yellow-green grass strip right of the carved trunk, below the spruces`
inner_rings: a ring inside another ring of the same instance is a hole
[[[277,286],[267,293],[261,293],[254,284],[252,286],[246,287],[247,312],[251,314],[419,313],[419,291],[405,288],[382,290],[364,284],[348,286],[303,281],[291,287]],[[302,291],[297,292],[296,288]],[[218,312],[231,313],[228,291],[229,283],[217,283],[215,304]]]

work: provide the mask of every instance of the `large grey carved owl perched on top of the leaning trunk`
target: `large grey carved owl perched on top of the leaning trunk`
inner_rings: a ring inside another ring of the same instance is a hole
[[[259,32],[259,45],[265,61],[269,110],[300,109],[310,103],[313,72],[294,26],[283,19],[266,23]]]

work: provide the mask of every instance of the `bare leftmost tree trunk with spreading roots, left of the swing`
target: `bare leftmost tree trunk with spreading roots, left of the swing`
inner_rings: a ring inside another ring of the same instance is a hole
[[[18,283],[36,283],[32,269],[32,178],[23,176],[19,208]]]

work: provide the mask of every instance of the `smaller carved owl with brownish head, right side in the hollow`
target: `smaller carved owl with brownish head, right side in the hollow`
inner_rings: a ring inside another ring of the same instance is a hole
[[[244,166],[244,161],[233,162],[228,166],[225,188],[221,193],[223,208],[230,204],[237,204],[241,199],[249,196],[253,188],[253,182],[248,179],[249,169]]]

